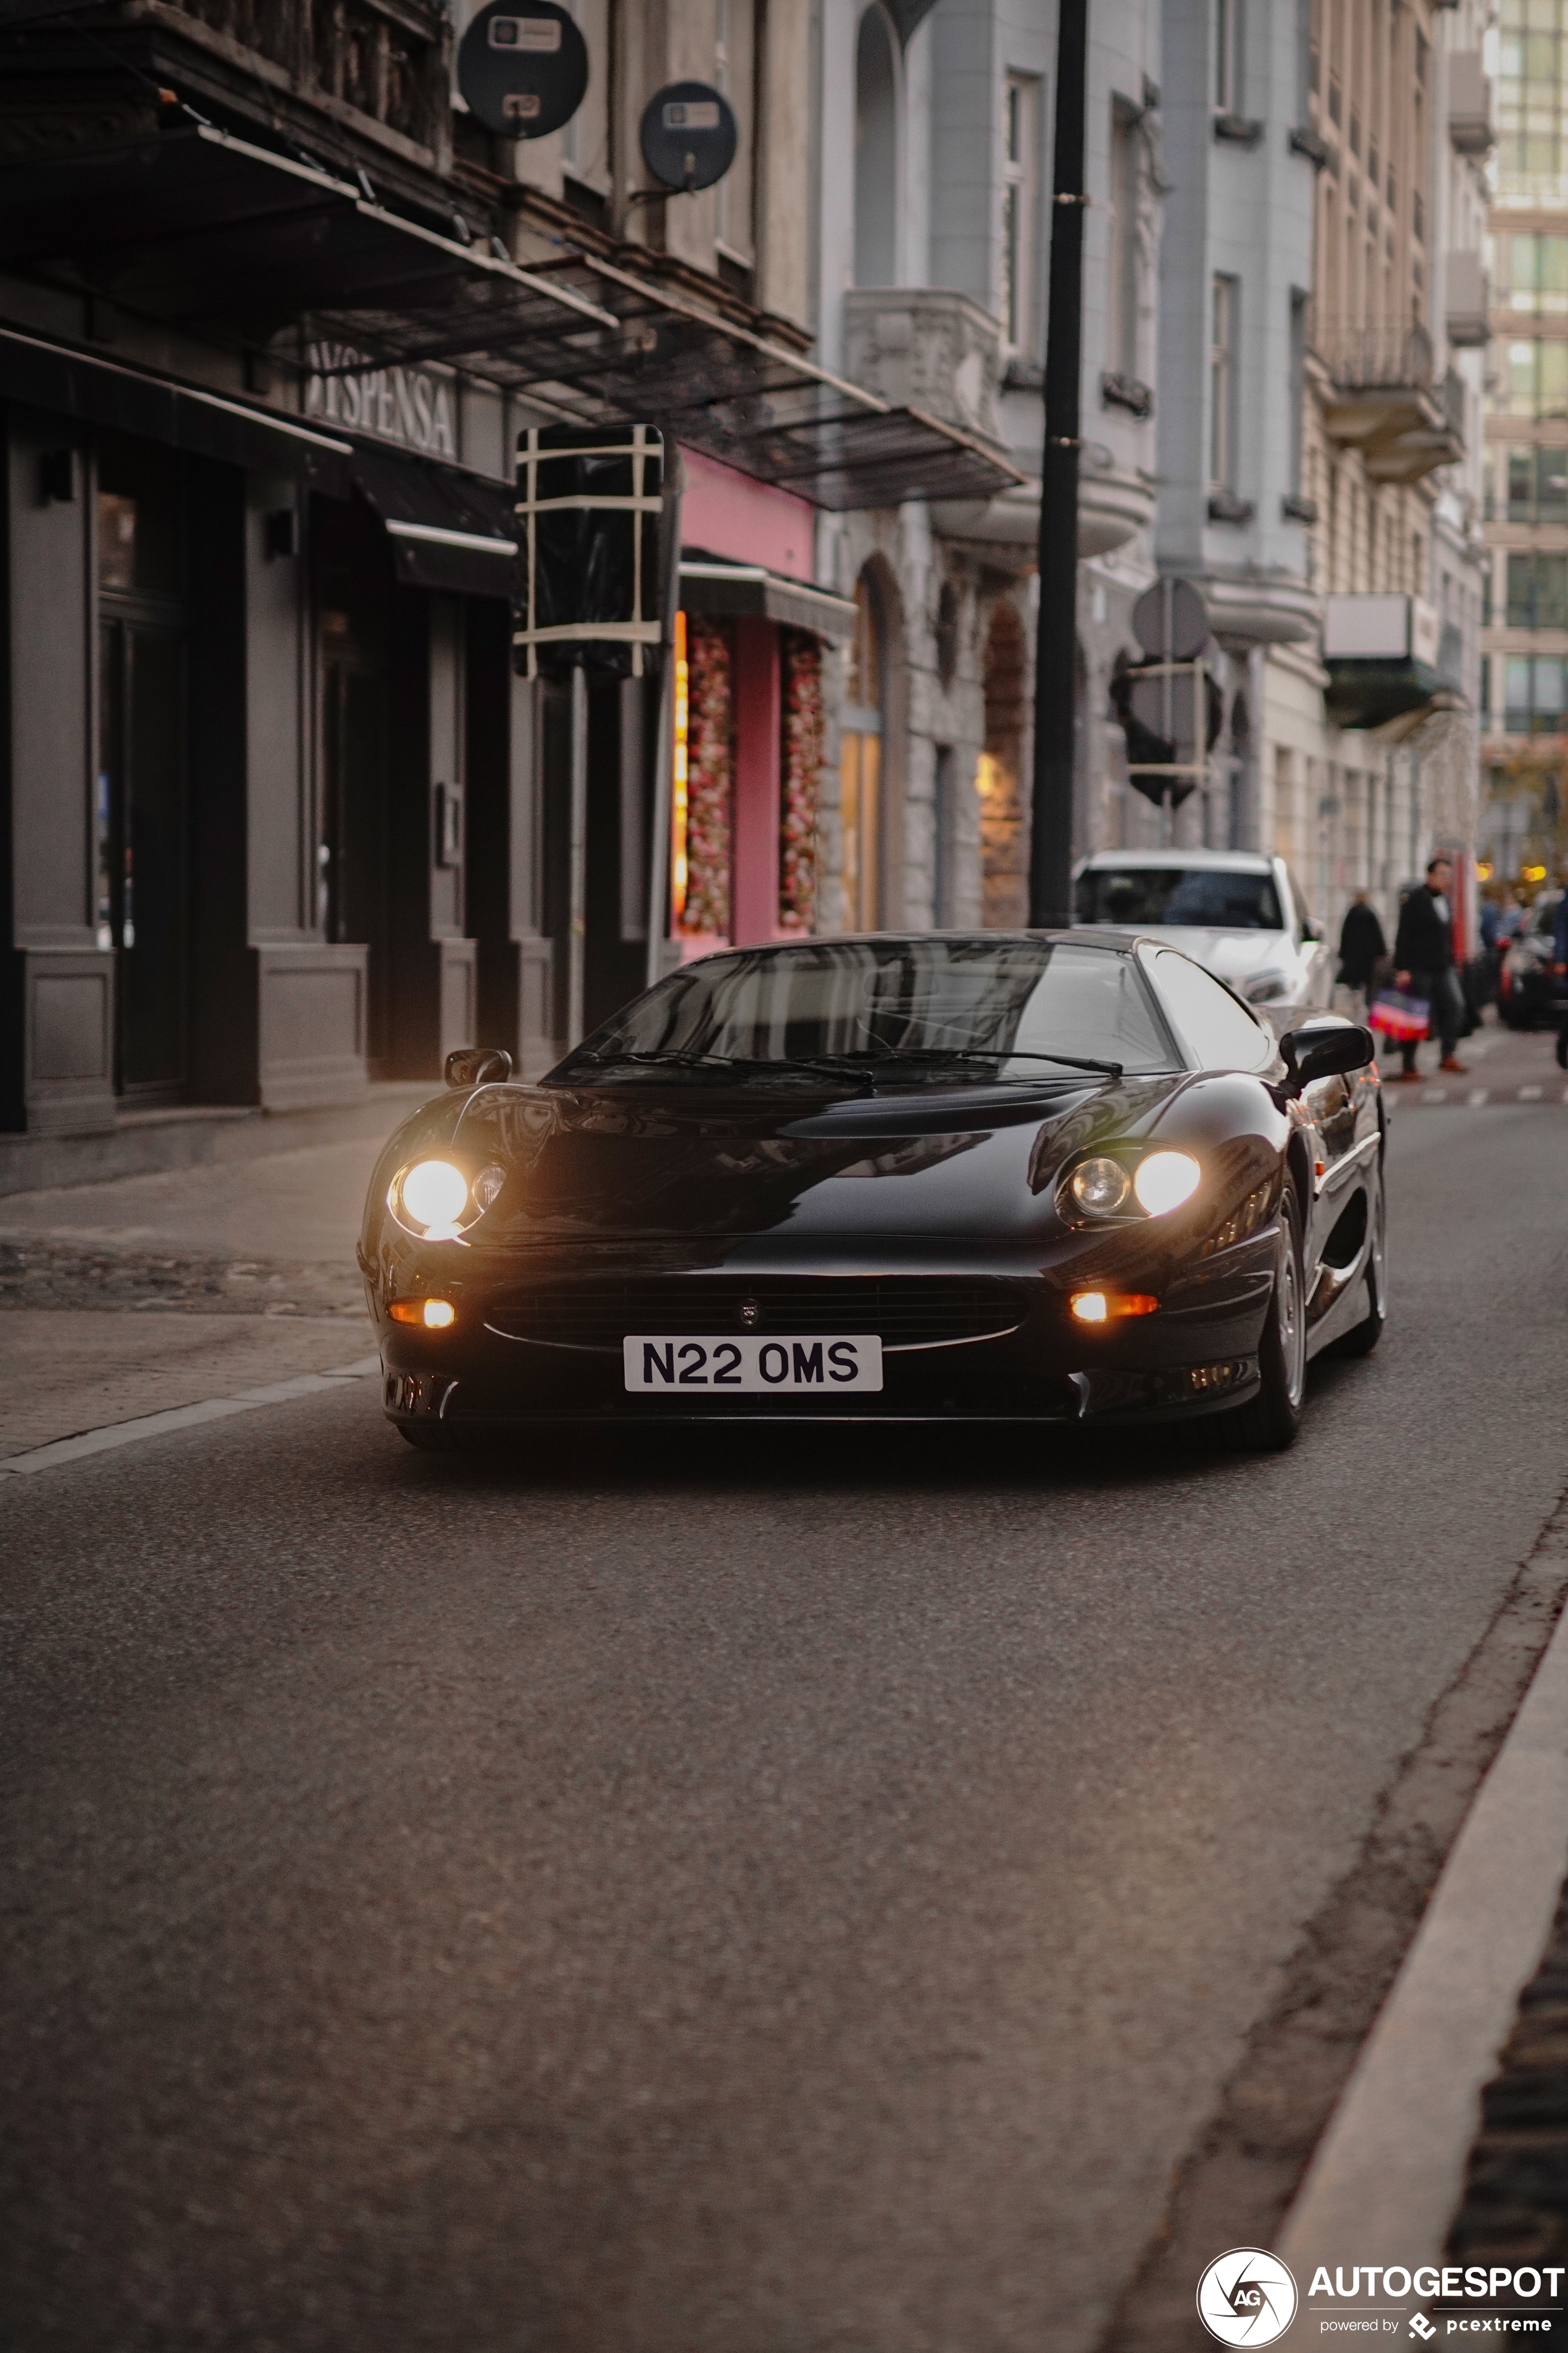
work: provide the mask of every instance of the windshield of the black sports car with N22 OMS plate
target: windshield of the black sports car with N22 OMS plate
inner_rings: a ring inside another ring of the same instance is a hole
[[[550,1075],[910,1085],[1178,1066],[1131,955],[1048,939],[816,939],[670,974]]]

